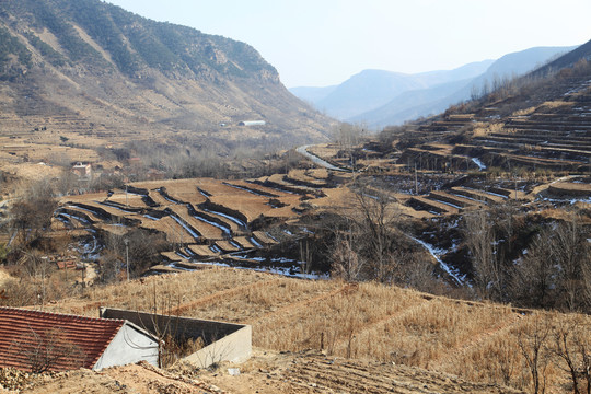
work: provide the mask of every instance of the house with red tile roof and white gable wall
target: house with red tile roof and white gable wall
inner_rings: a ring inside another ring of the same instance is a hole
[[[125,320],[0,308],[0,368],[101,370],[146,360],[158,367],[159,340]]]

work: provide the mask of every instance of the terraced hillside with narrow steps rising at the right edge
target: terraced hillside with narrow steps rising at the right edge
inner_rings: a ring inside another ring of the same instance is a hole
[[[563,81],[553,93],[547,102],[507,117],[490,107],[476,114],[451,114],[424,125],[415,131],[416,138],[429,142],[406,150],[403,160],[430,169],[439,169],[447,161],[454,169],[478,170],[478,164],[470,162],[476,158],[485,166],[589,172],[591,80]],[[431,143],[466,127],[475,129],[467,142],[450,147]]]

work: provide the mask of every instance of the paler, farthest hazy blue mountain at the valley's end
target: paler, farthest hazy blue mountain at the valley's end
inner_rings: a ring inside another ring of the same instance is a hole
[[[485,72],[493,60],[484,60],[454,70],[417,74],[364,70],[337,86],[292,88],[290,92],[331,116],[346,119],[384,105],[409,90],[474,78]]]

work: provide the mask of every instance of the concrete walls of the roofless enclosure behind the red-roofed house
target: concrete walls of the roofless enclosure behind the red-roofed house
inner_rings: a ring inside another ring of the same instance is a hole
[[[200,368],[220,361],[242,362],[252,354],[253,331],[250,325],[109,308],[101,308],[101,317],[127,320],[160,337],[170,334],[176,339],[202,338],[206,347],[185,358]]]

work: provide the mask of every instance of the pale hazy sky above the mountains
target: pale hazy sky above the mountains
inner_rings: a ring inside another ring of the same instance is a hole
[[[591,0],[107,0],[255,47],[288,88],[453,69],[591,39]]]

